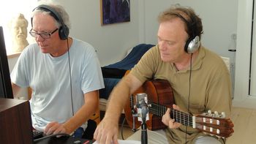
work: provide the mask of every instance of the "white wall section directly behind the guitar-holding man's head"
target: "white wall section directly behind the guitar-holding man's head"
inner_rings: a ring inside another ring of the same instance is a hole
[[[230,57],[228,51],[231,34],[236,34],[238,0],[144,0],[146,7],[146,42],[157,42],[157,15],[172,4],[192,7],[203,21],[202,43],[219,55]],[[228,9],[228,10],[227,10]]]

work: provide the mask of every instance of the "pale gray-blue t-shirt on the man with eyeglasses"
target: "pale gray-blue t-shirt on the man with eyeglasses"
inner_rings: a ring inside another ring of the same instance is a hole
[[[72,109],[77,112],[84,104],[83,94],[104,88],[94,48],[74,38],[69,53],[59,57],[42,53],[37,44],[29,45],[18,58],[11,79],[20,87],[33,89],[31,117],[39,130],[50,121],[64,123],[72,117]]]

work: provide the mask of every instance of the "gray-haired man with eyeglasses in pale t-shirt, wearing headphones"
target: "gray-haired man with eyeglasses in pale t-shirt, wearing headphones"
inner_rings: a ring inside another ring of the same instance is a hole
[[[23,50],[12,70],[14,94],[20,88],[32,89],[34,129],[81,137],[99,105],[98,90],[104,88],[95,49],[68,36],[69,15],[52,1],[39,2],[31,25],[29,34],[37,43]]]

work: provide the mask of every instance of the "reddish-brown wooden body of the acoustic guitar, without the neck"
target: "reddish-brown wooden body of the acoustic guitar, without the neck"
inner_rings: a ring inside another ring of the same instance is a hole
[[[170,83],[167,80],[150,80],[146,81],[129,99],[127,105],[124,107],[125,118],[127,123],[132,128],[132,110],[136,105],[136,94],[146,93],[148,95],[148,101],[164,105],[165,107],[173,107],[174,97],[173,90],[170,87]],[[148,129],[157,130],[165,128],[165,124],[162,124],[162,116],[154,115],[149,113],[149,120],[146,121]],[[135,129],[141,126],[141,122],[135,117]]]

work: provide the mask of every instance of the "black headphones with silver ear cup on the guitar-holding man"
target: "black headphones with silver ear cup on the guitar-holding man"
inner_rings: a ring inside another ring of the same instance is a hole
[[[185,13],[187,14],[187,12]],[[176,15],[178,18],[181,18],[184,23],[187,24],[188,31],[191,31],[192,34],[189,34],[189,39],[187,39],[184,50],[187,53],[195,53],[195,51],[200,47],[200,37],[195,34],[195,31],[197,31],[195,18],[191,18],[192,23],[189,23],[188,20],[186,20],[182,15],[178,13],[172,13],[171,15]]]

